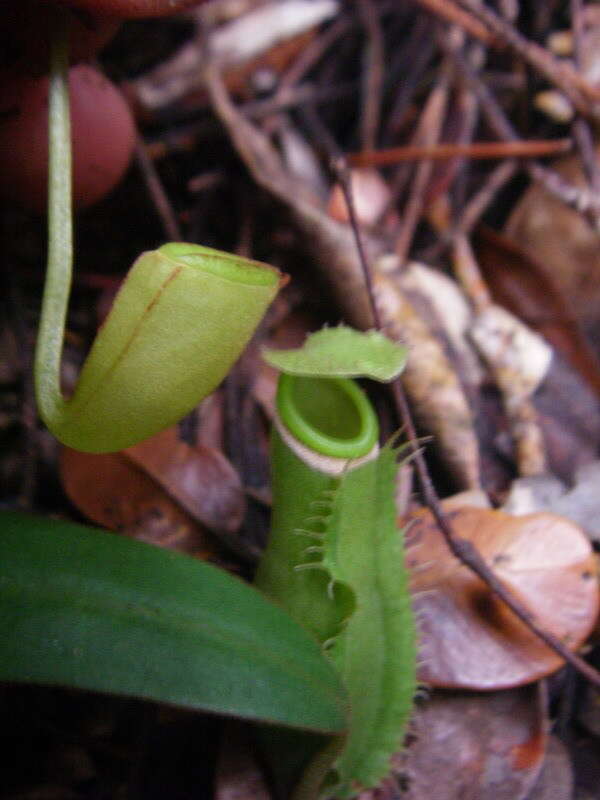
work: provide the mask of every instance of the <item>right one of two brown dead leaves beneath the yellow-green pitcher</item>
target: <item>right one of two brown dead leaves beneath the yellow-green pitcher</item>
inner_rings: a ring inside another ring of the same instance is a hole
[[[212,447],[182,442],[176,428],[124,451],[194,519],[212,531],[235,533],[246,511],[239,476],[225,456]]]

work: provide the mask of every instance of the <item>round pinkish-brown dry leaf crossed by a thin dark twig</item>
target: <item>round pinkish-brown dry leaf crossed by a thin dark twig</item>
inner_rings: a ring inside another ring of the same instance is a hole
[[[449,511],[457,535],[538,621],[572,650],[592,630],[598,584],[581,529],[556,514]],[[429,511],[410,518],[408,565],[420,631],[419,677],[434,686],[501,689],[548,675],[559,656],[450,553]]]

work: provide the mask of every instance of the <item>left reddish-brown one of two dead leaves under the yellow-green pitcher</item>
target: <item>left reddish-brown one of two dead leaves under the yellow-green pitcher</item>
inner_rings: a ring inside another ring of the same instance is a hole
[[[68,498],[98,525],[200,558],[215,555],[203,528],[121,453],[65,447],[60,474]]]

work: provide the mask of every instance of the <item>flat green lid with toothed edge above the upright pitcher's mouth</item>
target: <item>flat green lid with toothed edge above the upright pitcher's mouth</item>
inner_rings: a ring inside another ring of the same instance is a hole
[[[404,369],[406,347],[379,331],[361,333],[340,325],[311,334],[293,350],[263,350],[263,358],[290,375],[387,382]]]

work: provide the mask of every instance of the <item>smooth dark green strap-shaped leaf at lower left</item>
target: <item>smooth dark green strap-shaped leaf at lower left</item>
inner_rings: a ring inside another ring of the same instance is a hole
[[[317,643],[226,572],[72,523],[0,515],[0,680],[315,731],[345,697]]]

